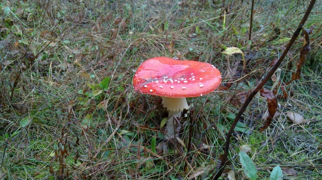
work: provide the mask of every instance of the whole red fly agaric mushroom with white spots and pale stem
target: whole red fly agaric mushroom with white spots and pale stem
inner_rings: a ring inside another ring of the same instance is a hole
[[[151,58],[134,74],[133,87],[142,94],[161,96],[169,111],[168,138],[174,135],[173,117],[188,109],[186,98],[203,96],[215,90],[221,82],[220,72],[209,63],[180,61],[166,57]]]

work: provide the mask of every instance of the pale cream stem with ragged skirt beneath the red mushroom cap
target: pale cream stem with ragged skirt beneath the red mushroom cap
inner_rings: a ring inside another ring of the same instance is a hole
[[[168,113],[168,120],[166,122],[166,129],[167,129],[167,138],[174,137],[175,131],[175,117],[180,117],[183,109],[188,109],[188,103],[186,98],[169,98],[169,97],[161,97],[162,104],[164,108],[167,108],[169,111]]]

